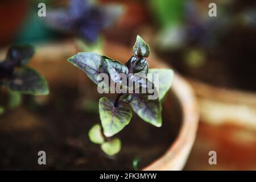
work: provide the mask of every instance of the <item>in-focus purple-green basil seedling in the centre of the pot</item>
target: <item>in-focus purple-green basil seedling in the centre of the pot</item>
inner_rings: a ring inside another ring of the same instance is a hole
[[[104,85],[106,92],[117,90],[118,86],[122,89],[115,100],[100,98],[98,107],[101,125],[96,124],[89,130],[90,140],[101,144],[101,149],[108,155],[117,154],[121,150],[121,141],[110,137],[128,125],[132,117],[129,107],[123,106],[121,101],[130,104],[133,111],[145,122],[156,127],[162,126],[161,101],[171,87],[174,73],[171,69],[149,69],[146,58],[150,55],[150,48],[140,36],[137,36],[133,53],[125,65],[92,52],[79,52],[68,59],[70,63],[84,71],[98,88]],[[148,73],[158,75],[153,77],[158,80],[145,76],[149,75]],[[108,76],[110,81],[102,79],[102,74]],[[139,91],[144,88],[146,92],[138,92],[138,89],[130,87],[129,84],[137,84]],[[151,89],[154,93],[150,92]],[[158,97],[152,99],[152,94]]]

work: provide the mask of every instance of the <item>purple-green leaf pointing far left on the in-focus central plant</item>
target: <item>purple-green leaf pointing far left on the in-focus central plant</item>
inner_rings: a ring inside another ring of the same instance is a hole
[[[102,81],[99,78],[100,73],[108,73],[108,66],[105,59],[97,53],[79,52],[69,57],[68,61],[84,71],[90,80],[97,85]]]

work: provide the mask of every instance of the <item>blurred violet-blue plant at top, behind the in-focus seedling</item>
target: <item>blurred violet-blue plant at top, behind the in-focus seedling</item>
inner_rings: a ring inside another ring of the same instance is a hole
[[[46,22],[56,30],[73,34],[86,43],[96,43],[102,30],[121,14],[116,5],[95,5],[88,0],[71,0],[68,9],[49,10]]]

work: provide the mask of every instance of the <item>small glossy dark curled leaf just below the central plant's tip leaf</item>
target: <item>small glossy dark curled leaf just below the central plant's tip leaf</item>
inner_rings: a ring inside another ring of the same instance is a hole
[[[129,73],[147,73],[148,63],[146,59],[141,57],[132,56],[131,59],[126,63]]]

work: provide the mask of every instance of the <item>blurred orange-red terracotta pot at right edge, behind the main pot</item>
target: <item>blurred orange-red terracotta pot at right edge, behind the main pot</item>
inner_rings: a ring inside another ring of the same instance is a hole
[[[189,81],[199,101],[200,125],[186,169],[255,170],[256,94]],[[208,164],[210,150],[217,152],[218,165]]]

